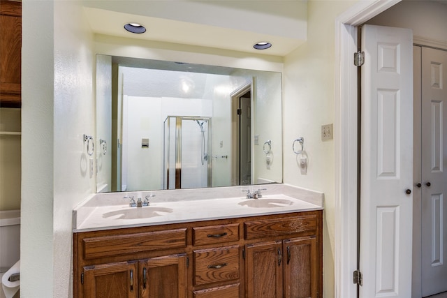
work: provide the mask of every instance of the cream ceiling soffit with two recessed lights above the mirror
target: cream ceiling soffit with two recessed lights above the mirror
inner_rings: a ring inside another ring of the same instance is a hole
[[[307,36],[307,0],[86,0],[84,6],[92,31],[111,36],[281,57]],[[147,31],[129,33],[128,22]],[[254,50],[259,41],[272,47]]]

